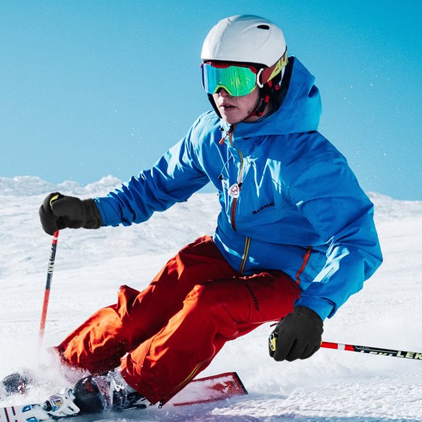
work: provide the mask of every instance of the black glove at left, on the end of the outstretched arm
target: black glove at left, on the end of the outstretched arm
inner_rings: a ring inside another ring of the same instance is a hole
[[[101,215],[93,199],[66,197],[59,192],[49,194],[39,208],[44,232],[53,235],[63,228],[100,228]]]

